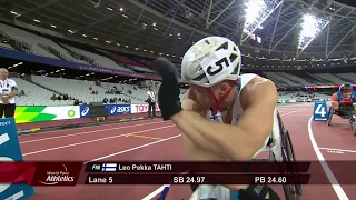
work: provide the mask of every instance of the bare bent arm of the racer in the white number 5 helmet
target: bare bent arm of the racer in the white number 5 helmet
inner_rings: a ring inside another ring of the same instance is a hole
[[[229,160],[247,161],[271,133],[278,94],[271,81],[260,78],[248,87],[247,96],[249,100],[237,126],[211,122],[188,110],[171,119],[187,138],[207,151]]]

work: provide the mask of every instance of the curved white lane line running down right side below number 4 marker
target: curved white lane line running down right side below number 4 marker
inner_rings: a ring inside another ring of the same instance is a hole
[[[329,179],[329,181],[330,181],[330,183],[333,186],[333,189],[334,189],[336,196],[338,197],[338,199],[348,200],[348,197],[346,196],[345,191],[343,190],[343,188],[337,182],[333,171],[327,166],[327,163],[326,163],[326,161],[325,161],[325,159],[323,157],[323,153],[319,150],[319,147],[315,141],[314,133],[313,133],[313,130],[312,130],[312,120],[313,120],[313,116],[310,117],[310,119],[308,121],[308,133],[309,133],[310,142],[313,144],[313,149],[314,149],[316,156],[318,157],[318,160],[320,161],[320,164],[322,164],[322,167],[324,169],[324,172],[326,173],[327,178]]]

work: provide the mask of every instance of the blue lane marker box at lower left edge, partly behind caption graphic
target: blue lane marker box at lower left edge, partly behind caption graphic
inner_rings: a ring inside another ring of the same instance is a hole
[[[0,162],[1,161],[23,161],[13,118],[0,119]],[[24,200],[33,194],[34,189],[26,183],[0,184],[0,199]]]

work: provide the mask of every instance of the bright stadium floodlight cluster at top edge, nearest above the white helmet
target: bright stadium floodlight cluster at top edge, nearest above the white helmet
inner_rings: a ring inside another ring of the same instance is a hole
[[[283,0],[248,0],[245,4],[245,28],[240,42],[245,42],[256,29],[283,3]]]

